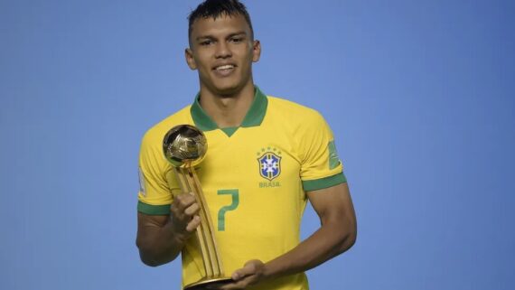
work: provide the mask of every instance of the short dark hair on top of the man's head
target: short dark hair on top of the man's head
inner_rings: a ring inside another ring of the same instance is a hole
[[[205,0],[197,6],[195,10],[188,16],[188,37],[192,35],[193,23],[200,19],[213,18],[217,19],[220,16],[228,15],[242,15],[250,27],[250,37],[254,39],[254,30],[252,29],[252,23],[250,22],[250,15],[247,12],[247,7],[243,5],[239,0]]]

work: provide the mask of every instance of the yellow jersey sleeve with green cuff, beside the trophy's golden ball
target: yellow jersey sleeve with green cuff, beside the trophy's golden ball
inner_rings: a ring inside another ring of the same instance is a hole
[[[143,137],[139,154],[137,210],[150,215],[167,215],[172,204],[172,191],[167,181],[171,167],[164,159],[162,141],[151,133]]]

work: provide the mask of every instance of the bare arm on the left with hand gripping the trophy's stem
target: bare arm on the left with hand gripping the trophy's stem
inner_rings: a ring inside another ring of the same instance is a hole
[[[136,245],[141,260],[156,267],[173,261],[200,224],[199,205],[191,194],[173,200],[170,215],[137,213]]]

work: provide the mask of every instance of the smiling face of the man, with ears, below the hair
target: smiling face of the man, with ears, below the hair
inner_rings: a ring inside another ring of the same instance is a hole
[[[260,53],[260,44],[252,40],[245,18],[222,15],[192,24],[186,61],[199,71],[201,89],[229,96],[252,85],[252,62],[259,60]]]

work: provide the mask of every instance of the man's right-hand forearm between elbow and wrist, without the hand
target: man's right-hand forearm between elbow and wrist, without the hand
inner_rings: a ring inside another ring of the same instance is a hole
[[[275,278],[304,272],[351,248],[356,239],[355,227],[342,227],[339,222],[327,222],[285,255],[265,265],[265,276]]]

